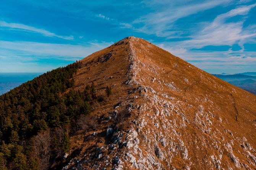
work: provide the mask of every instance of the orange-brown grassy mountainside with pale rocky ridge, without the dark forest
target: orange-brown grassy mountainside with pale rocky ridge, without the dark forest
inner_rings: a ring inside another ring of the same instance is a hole
[[[79,101],[91,113],[79,110],[70,130],[49,133],[70,137],[70,149],[49,157],[50,169],[256,168],[255,95],[135,37],[77,63],[60,96],[84,91]]]

